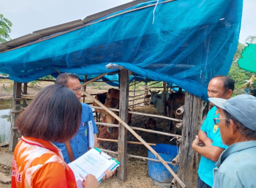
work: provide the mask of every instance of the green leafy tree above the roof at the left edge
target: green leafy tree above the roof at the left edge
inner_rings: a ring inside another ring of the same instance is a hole
[[[3,14],[0,14],[0,44],[11,40],[11,38],[9,37],[9,33],[11,32],[11,26],[11,21],[3,17]]]

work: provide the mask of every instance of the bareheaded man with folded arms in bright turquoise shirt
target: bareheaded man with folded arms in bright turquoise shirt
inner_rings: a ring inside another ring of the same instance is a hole
[[[226,76],[217,76],[212,78],[208,87],[207,95],[209,97],[219,97],[230,99],[234,90],[234,81]],[[219,112],[214,106],[207,113],[207,118],[203,122],[198,136],[192,143],[192,148],[201,155],[198,168],[197,187],[208,188],[214,184],[213,169],[220,154],[228,147],[222,144],[220,130],[214,124],[214,118],[219,117]]]

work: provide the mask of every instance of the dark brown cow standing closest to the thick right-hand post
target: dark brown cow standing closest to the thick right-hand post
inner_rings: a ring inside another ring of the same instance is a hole
[[[180,88],[177,93],[171,93],[167,100],[168,105],[168,115],[170,118],[175,118],[178,120],[183,119],[183,113],[177,113],[179,110],[182,110],[182,107],[185,103],[185,93],[182,93],[182,89]],[[178,110],[178,111],[177,111]],[[177,122],[170,123],[170,131],[173,134],[177,132]]]

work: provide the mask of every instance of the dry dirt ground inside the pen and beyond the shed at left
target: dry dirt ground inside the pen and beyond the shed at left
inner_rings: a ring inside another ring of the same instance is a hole
[[[40,82],[37,85],[34,85],[34,87],[28,87],[28,94],[36,95],[42,88],[46,87],[47,85],[51,85],[53,83],[51,82]],[[12,98],[12,83],[11,81],[3,81],[0,80],[0,101],[5,100],[11,100]],[[92,89],[88,87],[86,89],[88,93],[103,93],[106,90],[98,90],[98,89]],[[138,106],[132,109],[133,111],[139,111],[144,113],[152,113],[157,114],[156,109],[154,107],[148,106]],[[130,126],[136,126],[140,128],[145,128],[145,123],[148,120],[148,117],[141,116],[141,115],[132,115],[131,118],[131,124]],[[156,129],[158,131],[168,131],[168,121],[164,119],[156,118]],[[174,144],[176,145],[176,140],[172,140],[170,142],[170,138],[168,136],[161,136],[158,134],[151,134],[141,131],[136,131],[137,134],[141,136],[146,142],[149,143],[164,143],[164,144]],[[136,141],[137,139],[130,133],[128,133],[128,140]],[[111,148],[111,150],[117,151],[117,144],[102,144],[102,148]],[[0,147],[0,154],[1,152],[9,152],[8,148],[1,148]],[[10,153],[10,152],[9,152]],[[128,144],[127,146],[127,153],[133,154],[137,156],[147,156],[148,155],[148,149],[143,145],[136,145],[136,144]],[[111,154],[110,154],[111,155]],[[115,154],[112,154],[114,158],[117,158]],[[117,174],[117,173],[116,173]],[[5,175],[8,175],[11,177],[11,172],[5,173]],[[0,182],[0,188],[7,188],[11,187],[11,185],[5,185]],[[161,187],[159,185],[156,185],[154,181],[148,176],[148,162],[143,159],[137,159],[137,158],[131,158],[127,157],[127,179],[125,181],[119,181],[117,179],[117,175],[114,175],[110,179],[104,181],[100,184],[100,187],[106,187],[106,188],[115,188],[115,187],[124,187],[124,188],[148,188],[148,187]]]

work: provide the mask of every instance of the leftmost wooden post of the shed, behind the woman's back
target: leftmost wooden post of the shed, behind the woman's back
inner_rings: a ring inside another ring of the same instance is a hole
[[[20,110],[20,101],[14,101],[16,98],[22,97],[22,83],[14,82],[13,83],[13,100],[12,100],[12,108],[11,111],[18,111]],[[16,129],[16,120],[20,113],[11,113],[11,136],[10,136],[10,144],[9,150],[11,152],[14,151],[15,146],[18,143],[19,133]]]

